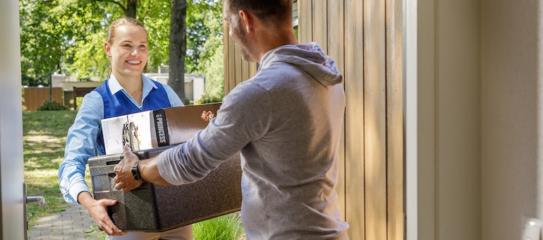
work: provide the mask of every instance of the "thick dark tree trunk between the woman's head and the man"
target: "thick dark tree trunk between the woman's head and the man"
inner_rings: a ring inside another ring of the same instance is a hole
[[[170,69],[168,85],[185,102],[186,0],[171,0]]]

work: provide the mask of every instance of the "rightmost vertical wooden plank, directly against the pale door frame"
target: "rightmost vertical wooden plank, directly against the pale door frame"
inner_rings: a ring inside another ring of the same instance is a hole
[[[403,8],[399,0],[385,4],[387,239],[404,239]]]

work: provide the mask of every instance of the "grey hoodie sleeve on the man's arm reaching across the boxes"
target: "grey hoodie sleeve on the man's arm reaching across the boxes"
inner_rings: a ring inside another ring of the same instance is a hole
[[[248,81],[224,97],[216,118],[176,148],[159,155],[159,173],[169,184],[188,184],[205,177],[269,128],[269,94]]]

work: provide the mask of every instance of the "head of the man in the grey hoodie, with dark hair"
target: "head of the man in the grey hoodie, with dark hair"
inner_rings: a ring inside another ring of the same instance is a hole
[[[297,42],[292,28],[292,0],[225,0],[229,35],[247,61],[260,61],[269,49]]]

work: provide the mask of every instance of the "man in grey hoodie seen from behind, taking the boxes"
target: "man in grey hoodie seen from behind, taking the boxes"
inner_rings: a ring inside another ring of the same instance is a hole
[[[140,162],[126,148],[116,189],[140,186],[135,162],[145,181],[180,185],[240,151],[247,239],[348,239],[336,206],[345,93],[334,61],[316,43],[298,44],[291,0],[226,0],[224,20],[257,75],[186,143]]]

